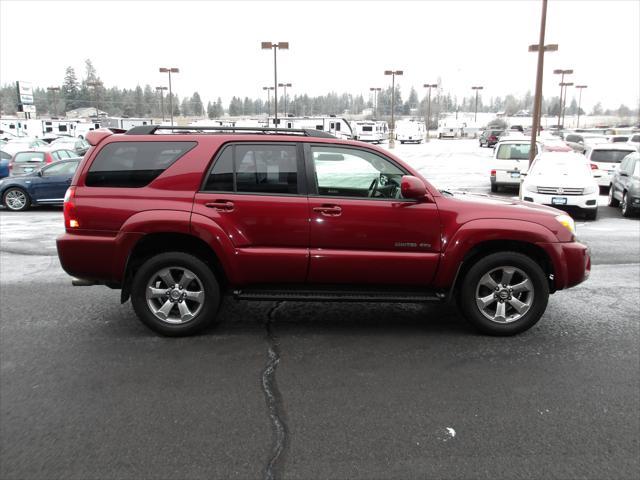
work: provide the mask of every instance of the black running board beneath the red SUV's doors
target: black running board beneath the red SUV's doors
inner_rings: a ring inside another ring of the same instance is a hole
[[[376,290],[376,289],[275,289],[243,288],[233,291],[236,300],[291,302],[385,302],[423,303],[441,302],[446,294],[425,290]]]

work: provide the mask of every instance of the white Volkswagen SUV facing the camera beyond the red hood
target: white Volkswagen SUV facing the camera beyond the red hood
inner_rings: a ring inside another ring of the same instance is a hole
[[[598,193],[588,163],[575,152],[541,153],[520,186],[521,200],[577,210],[590,220],[598,215]]]

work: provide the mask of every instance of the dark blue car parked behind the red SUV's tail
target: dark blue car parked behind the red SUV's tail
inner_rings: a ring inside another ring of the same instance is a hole
[[[0,180],[2,204],[12,212],[36,205],[62,205],[80,160],[61,160],[28,175]]]

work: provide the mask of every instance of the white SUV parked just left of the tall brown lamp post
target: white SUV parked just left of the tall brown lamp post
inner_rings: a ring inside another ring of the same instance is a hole
[[[531,143],[525,139],[511,140],[506,137],[496,145],[489,172],[492,192],[497,192],[500,187],[520,186],[521,174],[529,169],[530,150]]]

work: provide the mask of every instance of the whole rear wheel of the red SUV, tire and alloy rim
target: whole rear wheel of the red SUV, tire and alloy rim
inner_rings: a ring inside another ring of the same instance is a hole
[[[136,272],[131,303],[138,318],[162,335],[192,335],[206,328],[220,305],[220,287],[199,258],[167,252],[147,260]]]

